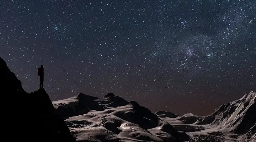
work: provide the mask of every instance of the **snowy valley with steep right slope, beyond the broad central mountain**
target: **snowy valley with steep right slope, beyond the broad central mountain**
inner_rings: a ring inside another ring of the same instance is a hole
[[[256,92],[251,91],[238,100],[222,104],[208,116],[188,113],[161,119],[168,121],[176,130],[187,132],[191,141],[256,142],[255,102]]]

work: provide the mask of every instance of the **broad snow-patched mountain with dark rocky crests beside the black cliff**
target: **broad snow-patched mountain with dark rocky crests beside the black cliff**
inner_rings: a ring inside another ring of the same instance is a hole
[[[112,93],[108,93],[103,99],[80,93],[69,99],[55,101],[53,105],[68,118],[66,124],[77,141],[189,140],[186,133],[176,131],[149,109]]]

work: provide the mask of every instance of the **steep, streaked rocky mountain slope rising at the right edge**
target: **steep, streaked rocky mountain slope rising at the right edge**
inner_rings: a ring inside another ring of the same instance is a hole
[[[222,125],[236,134],[245,134],[256,123],[256,93],[222,104],[213,114],[199,119],[198,124]]]

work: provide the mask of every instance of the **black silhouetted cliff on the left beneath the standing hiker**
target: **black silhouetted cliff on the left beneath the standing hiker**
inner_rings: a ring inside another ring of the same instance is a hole
[[[12,141],[75,141],[64,119],[54,109],[44,89],[25,92],[21,81],[0,58],[0,84],[3,103],[2,138]],[[17,135],[16,133],[17,132]]]

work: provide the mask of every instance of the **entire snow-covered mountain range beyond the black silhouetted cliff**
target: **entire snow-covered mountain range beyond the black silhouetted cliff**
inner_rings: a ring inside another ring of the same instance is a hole
[[[204,117],[168,111],[153,114],[112,93],[102,99],[80,93],[52,103],[77,141],[255,141],[255,96],[250,92]]]

